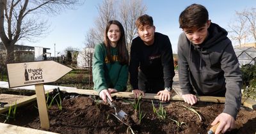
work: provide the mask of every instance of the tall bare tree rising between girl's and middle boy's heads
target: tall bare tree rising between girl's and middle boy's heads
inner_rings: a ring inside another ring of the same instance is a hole
[[[125,29],[127,45],[131,45],[132,39],[136,36],[135,21],[147,11],[147,6],[142,0],[123,0],[120,7],[120,20]]]

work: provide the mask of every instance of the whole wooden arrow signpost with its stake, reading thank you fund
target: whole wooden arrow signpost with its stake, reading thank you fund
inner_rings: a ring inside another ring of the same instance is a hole
[[[35,85],[36,101],[41,127],[50,128],[44,83],[55,82],[66,75],[72,68],[55,61],[36,61],[28,63],[6,64],[9,87]]]

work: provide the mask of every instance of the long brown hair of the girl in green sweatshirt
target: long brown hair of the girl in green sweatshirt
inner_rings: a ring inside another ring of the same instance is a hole
[[[120,30],[120,39],[116,43],[117,47],[117,54],[118,54],[118,61],[120,61],[121,64],[128,64],[129,63],[129,55],[127,51],[127,47],[125,45],[125,36],[124,36],[124,27],[118,20],[110,20],[106,26],[105,34],[104,34],[104,44],[107,48],[107,57],[110,61],[110,63],[113,63],[113,59],[111,58],[111,52],[110,52],[110,41],[108,38],[108,30],[111,24],[115,24],[119,27]]]

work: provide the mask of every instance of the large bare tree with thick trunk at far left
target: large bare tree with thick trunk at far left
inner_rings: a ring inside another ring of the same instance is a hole
[[[6,49],[6,63],[13,62],[18,40],[30,41],[47,30],[47,21],[40,20],[40,13],[58,14],[82,3],[82,0],[1,0],[0,38]]]

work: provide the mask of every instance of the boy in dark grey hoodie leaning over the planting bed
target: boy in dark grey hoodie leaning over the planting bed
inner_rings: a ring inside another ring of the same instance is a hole
[[[225,96],[225,108],[212,125],[220,122],[216,133],[235,127],[241,105],[241,72],[227,37],[227,31],[209,20],[200,4],[188,6],[179,17],[179,82],[182,98],[193,105],[199,96]]]

